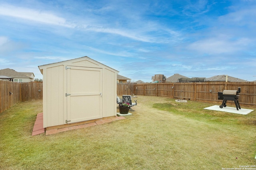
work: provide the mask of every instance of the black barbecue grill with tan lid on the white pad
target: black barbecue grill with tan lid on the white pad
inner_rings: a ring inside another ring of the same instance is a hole
[[[223,92],[218,92],[218,99],[222,100],[222,105],[220,105],[220,108],[226,107],[226,102],[227,100],[233,100],[236,105],[236,109],[239,110],[241,109],[240,104],[238,102],[238,97],[241,91],[241,88],[238,87],[238,90],[223,90]],[[239,108],[239,109],[238,109]]]

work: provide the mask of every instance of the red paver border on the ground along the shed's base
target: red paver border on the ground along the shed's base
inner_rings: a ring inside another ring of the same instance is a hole
[[[38,113],[37,117],[36,117],[35,124],[34,124],[33,131],[32,131],[32,136],[39,135],[41,133],[45,133],[45,135],[51,135],[51,134],[54,134],[54,133],[59,133],[59,132],[69,131],[69,130],[72,130],[72,129],[80,129],[80,128],[84,128],[84,127],[100,125],[100,124],[103,124],[103,123],[109,123],[109,122],[112,122],[112,121],[122,120],[122,119],[125,119],[125,117],[116,116],[116,117],[112,117],[112,118],[109,118],[109,119],[98,120],[98,121],[83,124],[83,125],[76,125],[76,126],[71,126],[71,127],[64,127],[64,128],[60,128],[60,129],[51,129],[51,130],[44,131],[43,113]]]

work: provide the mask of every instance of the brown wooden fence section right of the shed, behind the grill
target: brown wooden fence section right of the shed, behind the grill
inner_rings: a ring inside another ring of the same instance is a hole
[[[134,84],[135,95],[167,96],[200,102],[220,103],[218,92],[238,90],[241,87],[239,103],[256,105],[255,82],[191,82],[191,83],[147,83]],[[121,96],[121,95],[120,95]]]

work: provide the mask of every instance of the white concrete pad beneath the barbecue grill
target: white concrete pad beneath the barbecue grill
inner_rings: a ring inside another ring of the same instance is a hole
[[[247,115],[248,113],[254,111],[254,110],[251,110],[251,109],[243,109],[243,108],[237,110],[236,107],[228,107],[228,106],[220,108],[220,106],[218,106],[218,105],[206,107],[204,109],[216,110],[216,111],[225,111],[225,112],[228,112],[228,113],[236,113],[236,114],[242,114],[242,115]]]

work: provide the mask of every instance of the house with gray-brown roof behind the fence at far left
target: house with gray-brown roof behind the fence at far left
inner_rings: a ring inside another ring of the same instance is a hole
[[[17,72],[10,68],[0,70],[1,77],[12,78],[14,82],[34,82],[35,75],[33,72]],[[1,78],[0,80],[9,80]]]

